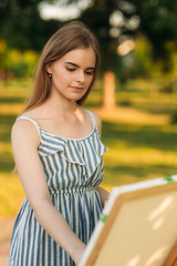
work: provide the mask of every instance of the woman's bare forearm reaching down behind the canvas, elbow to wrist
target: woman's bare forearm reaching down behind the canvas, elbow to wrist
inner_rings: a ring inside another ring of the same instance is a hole
[[[70,228],[61,213],[49,200],[35,205],[34,214],[48,234],[73,258],[77,264],[84,253],[85,245]]]

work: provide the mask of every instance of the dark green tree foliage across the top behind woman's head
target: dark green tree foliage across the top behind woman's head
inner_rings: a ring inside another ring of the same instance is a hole
[[[0,38],[6,40],[8,48],[40,51],[49,37],[63,24],[60,20],[43,20],[39,9],[41,2],[42,0],[9,0],[0,6]],[[80,8],[83,1],[49,0],[46,2],[60,3],[61,8],[62,6],[70,8],[74,4]],[[104,70],[119,68],[122,58],[117,55],[117,45],[127,39],[136,39],[140,33],[152,44],[149,57],[153,54],[155,60],[162,61],[164,72],[170,72],[171,49],[168,44],[173,42],[173,51],[176,50],[176,1],[93,0],[92,4],[81,11],[79,19],[84,21],[100,39]]]

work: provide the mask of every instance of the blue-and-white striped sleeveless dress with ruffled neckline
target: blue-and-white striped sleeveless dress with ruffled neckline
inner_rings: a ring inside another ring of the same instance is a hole
[[[39,156],[43,165],[51,201],[77,235],[88,243],[102,212],[96,191],[103,180],[102,155],[107,151],[98,135],[92,112],[93,130],[83,139],[64,139],[42,130]],[[60,228],[59,228],[60,231]],[[35,219],[27,197],[15,218],[8,266],[74,266],[72,258]]]

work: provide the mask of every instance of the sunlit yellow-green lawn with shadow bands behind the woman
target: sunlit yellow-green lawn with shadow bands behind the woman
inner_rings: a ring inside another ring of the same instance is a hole
[[[102,141],[108,147],[103,186],[107,190],[177,173],[177,125],[171,123],[177,94],[152,94],[147,90],[150,83],[146,90],[135,90],[136,83],[133,85],[116,91],[114,110],[101,108],[98,83],[86,104],[103,120]],[[22,110],[28,86],[28,82],[0,83],[0,217],[15,215],[24,197],[19,177],[12,174],[10,131]]]

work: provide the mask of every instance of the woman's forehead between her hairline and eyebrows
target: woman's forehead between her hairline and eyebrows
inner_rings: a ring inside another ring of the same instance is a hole
[[[74,49],[61,59],[63,62],[72,62],[80,66],[94,68],[96,63],[96,54],[92,48]]]

